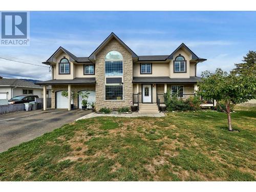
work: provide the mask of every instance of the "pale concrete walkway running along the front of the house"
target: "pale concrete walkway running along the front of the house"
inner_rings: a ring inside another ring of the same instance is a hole
[[[90,113],[88,115],[84,115],[77,120],[80,119],[89,119],[93,117],[164,117],[164,113],[140,113],[140,112],[135,112],[135,113],[129,113],[129,114],[98,114],[98,113]]]

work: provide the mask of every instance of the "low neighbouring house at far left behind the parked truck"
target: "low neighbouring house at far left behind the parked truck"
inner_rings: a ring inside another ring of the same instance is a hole
[[[42,98],[43,87],[22,79],[0,78],[0,99],[11,99],[18,95],[37,95]],[[47,88],[47,97],[51,97],[51,89]]]

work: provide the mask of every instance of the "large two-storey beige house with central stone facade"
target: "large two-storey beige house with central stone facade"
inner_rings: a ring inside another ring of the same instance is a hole
[[[70,94],[90,91],[89,102],[95,102],[96,110],[134,102],[140,111],[152,111],[158,101],[163,103],[167,90],[179,92],[182,98],[194,96],[201,80],[197,64],[205,60],[183,43],[169,55],[138,56],[111,33],[89,57],[77,57],[59,47],[43,62],[52,67],[52,80],[36,84],[52,86],[52,108],[70,110],[72,99],[61,96],[67,90]],[[81,108],[81,98],[73,104]]]

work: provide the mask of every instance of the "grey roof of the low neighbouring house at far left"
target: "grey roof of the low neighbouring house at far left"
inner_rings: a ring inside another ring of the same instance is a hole
[[[1,86],[10,86],[10,87],[24,87],[24,88],[38,88],[42,89],[42,87],[38,86],[37,84],[34,84],[30,81],[25,81],[22,79],[0,79],[0,87]]]

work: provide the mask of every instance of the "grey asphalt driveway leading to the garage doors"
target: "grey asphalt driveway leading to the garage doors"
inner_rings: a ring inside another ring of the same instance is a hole
[[[0,115],[0,152],[73,122],[91,110],[29,111]]]

